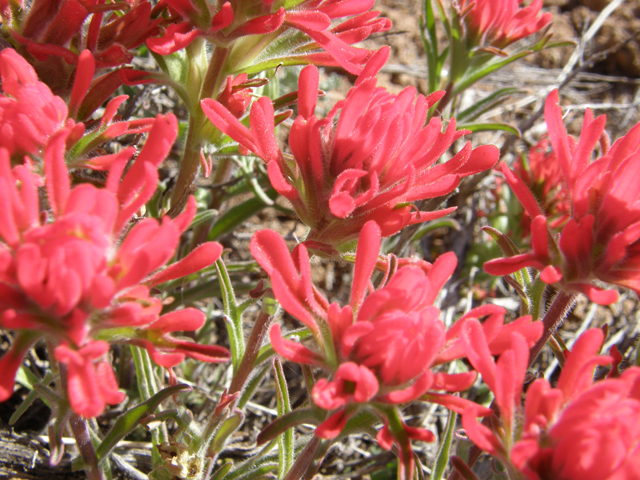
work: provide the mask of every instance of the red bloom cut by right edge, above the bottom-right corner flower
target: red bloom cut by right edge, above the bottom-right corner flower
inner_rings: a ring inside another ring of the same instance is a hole
[[[549,140],[562,171],[570,219],[551,231],[547,218],[526,184],[508,168],[507,182],[529,213],[532,252],[485,264],[493,275],[506,275],[523,267],[541,270],[541,279],[568,292],[584,293],[592,301],[610,304],[615,290],[603,290],[595,280],[640,292],[640,125],[609,147],[604,116],[587,111],[578,140],[567,135],[552,92],[545,106]],[[591,160],[598,143],[602,156]],[[553,225],[551,225],[553,226]]]

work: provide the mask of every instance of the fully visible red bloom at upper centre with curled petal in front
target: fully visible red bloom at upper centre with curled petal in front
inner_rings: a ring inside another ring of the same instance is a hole
[[[420,212],[411,202],[445,195],[462,177],[498,160],[496,147],[472,150],[467,143],[449,161],[437,164],[467,132],[456,131],[455,120],[444,132],[438,118],[424,126],[429,108],[443,92],[425,98],[416,96],[414,88],[393,95],[376,86],[375,74],[387,56],[388,49],[376,54],[347,98],[323,119],[314,115],[318,69],[309,66],[302,71],[299,115],[289,136],[293,157],[277,145],[268,98],[253,105],[251,129],[215,100],[202,102],[216,127],[267,163],[273,187],[310,227],[306,244],[315,251],[335,255],[345,250],[370,220],[386,237],[445,215],[453,209]]]

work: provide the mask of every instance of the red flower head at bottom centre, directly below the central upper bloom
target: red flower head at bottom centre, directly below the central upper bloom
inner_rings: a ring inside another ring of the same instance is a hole
[[[271,277],[277,300],[309,328],[317,346],[287,340],[275,325],[270,332],[274,349],[293,362],[314,365],[332,374],[329,379],[319,380],[312,392],[316,405],[334,412],[316,429],[316,435],[323,438],[336,437],[347,419],[367,405],[375,410],[376,404],[403,404],[421,398],[458,412],[471,408],[478,415],[487,414],[486,409],[459,397],[436,393],[469,388],[475,372],[450,375],[431,369],[466,355],[460,333],[468,323],[477,324],[485,332],[487,348],[494,354],[508,347],[511,332],[525,335],[528,346],[541,334],[541,324],[532,324],[530,317],[504,325],[505,311],[495,306],[472,310],[445,331],[440,311],[433,303],[455,269],[455,255],[443,255],[428,272],[418,266],[403,267],[375,290],[370,277],[378,262],[380,240],[377,224],[365,224],[356,253],[351,303],[345,307],[329,304],[311,283],[304,245],[290,254],[282,237],[272,230],[260,231],[251,240],[251,253]],[[489,318],[480,325],[477,319],[487,315]],[[385,413],[377,413],[387,422]],[[426,434],[414,430],[407,427],[406,435],[426,438]],[[393,443],[389,437],[402,446],[405,471],[410,472],[408,443],[388,428],[381,431],[381,436],[383,446]]]

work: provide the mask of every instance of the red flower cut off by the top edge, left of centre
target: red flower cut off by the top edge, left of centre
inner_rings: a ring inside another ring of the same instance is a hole
[[[276,43],[297,45],[286,53],[287,60],[295,58],[297,63],[340,65],[358,74],[371,52],[351,45],[372,33],[391,28],[389,20],[377,18],[379,12],[370,11],[374,0],[305,0],[296,2],[293,8],[282,1],[248,3],[232,0],[218,10],[189,0],[167,0],[166,3],[175,12],[176,23],[170,24],[160,38],[147,40],[149,48],[160,55],[176,52],[198,37],[226,46],[240,37],[268,34],[273,39],[280,37]],[[333,20],[344,17],[349,18],[332,25]],[[300,33],[311,38],[311,42],[293,38]],[[289,38],[283,41],[286,37]],[[240,64],[245,64],[262,53],[261,49],[255,51],[257,46],[256,42],[244,45],[240,48],[241,54],[232,55]],[[278,56],[277,45],[275,50],[265,52],[265,58],[273,57],[274,53]]]

